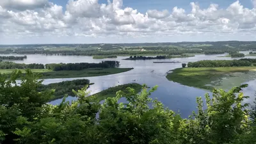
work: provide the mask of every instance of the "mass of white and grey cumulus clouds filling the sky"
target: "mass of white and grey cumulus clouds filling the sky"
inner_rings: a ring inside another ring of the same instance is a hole
[[[123,40],[116,42],[151,38],[151,42],[161,38],[169,41],[173,36],[191,36],[194,40],[200,35],[202,38],[207,38],[205,35],[209,38],[255,35],[256,8],[244,8],[239,1],[227,8],[219,8],[218,4],[210,4],[205,9],[198,3],[190,5],[191,10],[175,6],[169,11],[140,13],[124,7],[122,0],[113,0],[113,3],[108,0],[108,4],[100,4],[98,0],[69,0],[65,11],[48,0],[0,0],[0,44],[5,42],[4,38],[18,38],[19,42],[38,38],[40,43],[44,38],[70,36],[70,40],[74,40],[84,36]]]

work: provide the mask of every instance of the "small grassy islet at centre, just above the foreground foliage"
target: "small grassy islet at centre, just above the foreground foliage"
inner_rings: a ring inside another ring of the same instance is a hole
[[[128,93],[126,88],[133,88],[136,93],[139,93],[141,91],[141,84],[138,83],[130,83],[130,84],[122,84],[119,86],[115,86],[112,88],[108,88],[107,90],[103,90],[102,92],[95,93],[94,97],[97,97],[99,100],[107,99],[108,97],[116,97],[116,92],[122,90],[122,92]]]

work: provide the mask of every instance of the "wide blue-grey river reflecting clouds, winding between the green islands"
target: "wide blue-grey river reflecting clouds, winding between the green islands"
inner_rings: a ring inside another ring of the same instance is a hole
[[[248,54],[248,52],[243,52]],[[13,55],[13,54],[12,54]],[[66,79],[45,79],[44,84],[58,83],[61,81],[68,81],[72,79],[90,79],[91,83],[95,83],[90,86],[89,90],[91,94],[106,90],[109,87],[117,86],[119,84],[126,83],[139,83],[147,84],[152,87],[158,85],[156,92],[152,93],[152,98],[157,98],[163,102],[164,106],[178,112],[182,117],[187,117],[191,115],[192,111],[196,110],[196,97],[204,97],[204,94],[208,91],[201,90],[198,88],[193,88],[189,86],[184,86],[179,83],[173,83],[168,81],[165,77],[166,72],[169,70],[180,68],[181,63],[188,63],[189,61],[199,61],[199,60],[232,60],[233,58],[220,58],[218,56],[224,56],[225,54],[215,54],[215,55],[204,55],[197,54],[195,57],[190,58],[173,58],[171,60],[137,60],[129,61],[122,60],[127,58],[127,56],[118,56],[115,59],[120,61],[120,67],[134,69],[129,72],[124,72],[121,74],[113,74],[109,76],[99,76],[99,77],[80,77],[80,78],[66,78]],[[6,55],[5,55],[6,56]],[[17,54],[17,56],[21,56]],[[40,54],[27,55],[28,58],[24,61],[14,61],[16,63],[99,63],[102,60],[94,60],[92,56],[43,56]],[[246,57],[250,58],[250,57]],[[251,57],[256,58],[256,57]],[[153,63],[153,61],[180,61],[180,63]],[[154,70],[154,71],[153,71]],[[250,96],[246,102],[252,103],[254,100],[254,94],[256,90],[256,80],[252,79],[248,82],[248,88],[244,89],[244,94]],[[230,86],[231,88],[232,86]],[[209,92],[208,92],[209,93]],[[68,97],[68,100],[76,99],[74,97]],[[61,100],[54,100],[50,102],[51,104],[60,104]]]

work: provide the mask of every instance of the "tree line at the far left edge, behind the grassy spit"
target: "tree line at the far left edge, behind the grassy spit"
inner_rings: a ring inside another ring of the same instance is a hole
[[[0,62],[0,69],[44,69],[43,64],[39,63],[31,63],[31,64],[25,64],[25,63],[13,63],[11,61],[1,61]]]

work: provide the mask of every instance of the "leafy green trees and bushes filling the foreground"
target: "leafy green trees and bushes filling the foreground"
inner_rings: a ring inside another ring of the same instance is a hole
[[[231,90],[213,90],[197,97],[197,110],[182,118],[165,108],[144,84],[141,93],[132,88],[116,92],[100,104],[86,97],[86,86],[74,91],[77,100],[52,106],[53,90],[38,87],[42,81],[27,70],[22,81],[0,75],[0,143],[87,143],[87,144],[210,144],[256,143],[256,109],[244,103],[243,84]],[[126,99],[125,103],[118,100]]]

